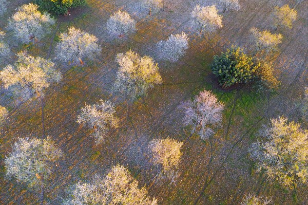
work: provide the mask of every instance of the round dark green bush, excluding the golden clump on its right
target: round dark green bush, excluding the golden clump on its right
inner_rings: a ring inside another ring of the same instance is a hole
[[[237,83],[247,83],[253,80],[255,71],[259,68],[251,57],[248,57],[241,48],[232,47],[215,55],[211,67],[213,73],[219,79],[220,85],[229,87]]]

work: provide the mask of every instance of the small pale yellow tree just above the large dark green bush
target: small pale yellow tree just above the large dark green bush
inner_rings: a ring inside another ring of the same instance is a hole
[[[267,30],[260,31],[253,27],[249,30],[250,38],[256,45],[256,51],[264,50],[266,53],[277,50],[278,44],[282,42],[282,35],[272,34]]]

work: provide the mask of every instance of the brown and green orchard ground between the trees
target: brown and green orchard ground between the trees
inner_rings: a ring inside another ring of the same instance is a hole
[[[63,80],[47,90],[46,134],[62,149],[64,157],[48,182],[46,204],[60,204],[69,185],[79,180],[89,181],[95,174],[103,175],[117,163],[128,167],[139,184],[148,187],[149,197],[158,199],[158,204],[239,204],[248,193],[272,197],[275,204],[308,204],[307,185],[299,184],[295,195],[277,183],[270,183],[264,173],[254,171],[247,152],[269,119],[284,115],[299,120],[296,102],[307,85],[307,1],[241,2],[240,11],[222,13],[224,27],[209,40],[190,29],[191,9],[197,2],[207,4],[205,1],[166,1],[164,9],[151,16],[147,11],[135,9],[138,1],[131,1],[124,9],[137,20],[137,32],[111,40],[105,30],[106,21],[124,2],[88,0],[85,8],[73,10],[70,16],[57,17],[52,32],[38,45],[23,46],[33,55],[52,59],[59,41],[57,36],[66,32],[67,27],[75,26],[97,36],[103,50],[95,62],[85,61],[83,66],[59,65]],[[294,6],[298,20],[292,29],[274,31],[269,20],[271,11],[283,4]],[[1,22],[2,29],[5,24]],[[253,26],[284,35],[279,52],[271,57],[281,88],[271,94],[258,94],[248,87],[223,90],[210,73],[213,55],[230,44],[249,49],[247,35]],[[152,55],[155,43],[182,31],[190,38],[185,57],[177,63],[156,60],[162,85],[134,103],[112,94],[117,53],[131,49],[141,55]],[[212,89],[226,107],[221,127],[207,141],[195,135],[188,138],[189,127],[182,125],[183,110],[179,109],[183,101],[204,89]],[[38,204],[37,194],[25,184],[5,178],[4,158],[18,137],[42,136],[40,104],[32,100],[15,109],[13,99],[3,89],[1,96],[0,103],[13,113],[0,138],[0,204]],[[95,145],[89,129],[76,123],[76,117],[84,103],[100,99],[110,99],[117,105],[120,128],[106,137],[104,143]],[[176,184],[153,183],[156,172],[146,146],[153,138],[167,136],[185,141],[180,177]]]

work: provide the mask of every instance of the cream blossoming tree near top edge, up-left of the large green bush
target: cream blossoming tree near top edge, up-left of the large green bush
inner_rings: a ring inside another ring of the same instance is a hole
[[[218,15],[215,6],[200,7],[196,5],[191,13],[192,26],[198,28],[202,32],[213,33],[222,27],[222,16]]]

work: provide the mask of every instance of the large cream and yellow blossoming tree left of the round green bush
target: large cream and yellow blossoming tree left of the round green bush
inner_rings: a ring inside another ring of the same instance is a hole
[[[158,65],[148,56],[140,57],[130,50],[118,53],[116,61],[120,68],[113,89],[122,92],[129,99],[143,96],[155,84],[162,83]]]

